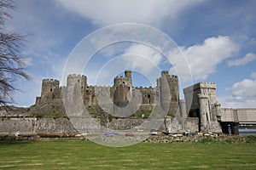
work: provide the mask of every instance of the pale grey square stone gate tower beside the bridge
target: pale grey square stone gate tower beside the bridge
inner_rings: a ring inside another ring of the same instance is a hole
[[[198,117],[201,132],[221,132],[220,104],[216,98],[216,84],[198,82],[183,89],[189,117]]]

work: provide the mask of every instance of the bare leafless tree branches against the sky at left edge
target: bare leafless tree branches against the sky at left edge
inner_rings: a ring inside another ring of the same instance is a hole
[[[25,57],[20,56],[26,36],[7,31],[6,20],[12,19],[9,10],[15,4],[10,0],[0,0],[0,105],[13,101],[14,82],[19,78],[29,79],[25,71]]]

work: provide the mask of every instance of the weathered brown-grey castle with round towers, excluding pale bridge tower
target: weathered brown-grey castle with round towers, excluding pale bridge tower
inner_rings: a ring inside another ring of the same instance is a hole
[[[81,75],[69,75],[67,87],[60,87],[60,82],[53,79],[44,79],[42,82],[41,96],[37,97],[36,104],[31,110],[35,112],[63,112],[61,103],[65,89],[79,85],[85,106],[98,105],[97,95],[106,89],[113,104],[124,107],[129,103],[128,98],[136,97],[134,91],[139,90],[142,95],[140,111],[152,111],[154,105],[160,101],[160,105],[168,110],[169,115],[175,115],[178,111],[179,92],[177,76],[170,76],[168,71],[162,71],[161,77],[157,79],[157,87],[133,88],[131,71],[125,71],[125,77],[114,77],[113,87],[89,86],[87,77]],[[101,90],[99,90],[101,89]],[[106,91],[105,90],[105,91]],[[169,105],[171,104],[171,107]]]

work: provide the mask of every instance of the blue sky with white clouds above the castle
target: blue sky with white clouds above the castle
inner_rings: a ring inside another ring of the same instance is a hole
[[[104,26],[137,23],[152,26],[171,37],[188,60],[193,81],[217,83],[218,101],[223,107],[256,107],[256,2],[253,0],[22,0],[15,3],[17,8],[11,12],[14,19],[7,23],[6,29],[32,34],[22,51],[28,56],[26,71],[32,80],[16,82],[21,92],[15,94],[15,105],[33,105],[40,95],[43,78],[61,80],[69,54],[84,37]],[[102,40],[97,41],[100,44]],[[135,86],[154,86],[155,82],[148,80],[160,75],[146,77],[154,70],[140,56],[161,65],[162,70],[170,68],[154,49],[121,42],[102,48],[90,60],[84,71],[89,84],[95,83],[93,78],[102,65],[128,52],[137,57],[127,55],[120,59],[125,68],[137,71]],[[169,54],[178,55],[175,50]],[[113,65],[109,68],[114,69]],[[176,67],[182,69],[183,65]],[[183,73],[179,72],[182,79]],[[106,85],[112,81],[110,78]]]

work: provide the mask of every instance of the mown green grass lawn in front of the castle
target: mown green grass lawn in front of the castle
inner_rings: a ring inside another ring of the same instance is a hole
[[[256,144],[0,142],[0,169],[255,169]]]

